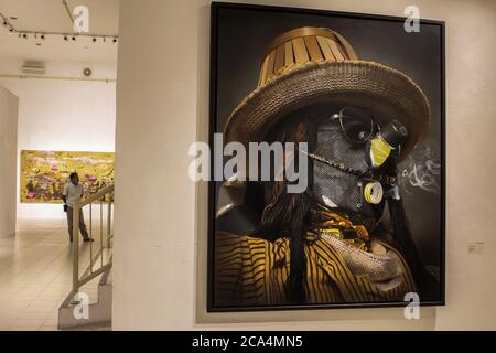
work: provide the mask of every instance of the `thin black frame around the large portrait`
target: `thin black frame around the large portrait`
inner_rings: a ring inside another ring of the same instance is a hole
[[[211,52],[209,52],[209,128],[208,141],[211,150],[214,146],[214,132],[216,132],[217,119],[217,74],[218,67],[218,13],[222,10],[251,10],[262,12],[277,12],[284,14],[316,14],[338,17],[345,19],[364,19],[388,22],[405,22],[406,18],[392,15],[367,14],[356,12],[341,12],[331,10],[314,10],[308,8],[258,6],[247,3],[228,3],[212,2],[211,6]],[[440,206],[441,206],[441,234],[440,234],[440,300],[421,301],[422,307],[445,306],[445,22],[440,20],[420,19],[420,25],[431,24],[439,26],[440,31],[440,105],[441,105],[441,127],[440,127],[440,145],[441,145],[441,176],[440,176]],[[214,170],[214,161],[211,159],[211,170]],[[208,249],[207,249],[207,312],[241,312],[241,311],[278,311],[278,310],[315,310],[315,309],[347,309],[347,308],[390,308],[405,307],[407,302],[359,302],[359,303],[339,303],[339,304],[283,304],[271,307],[216,307],[213,302],[214,292],[214,240],[215,240],[215,205],[216,205],[216,186],[214,181],[208,182]]]

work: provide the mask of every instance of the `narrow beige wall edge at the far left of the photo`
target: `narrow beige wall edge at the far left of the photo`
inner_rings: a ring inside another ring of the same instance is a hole
[[[0,237],[15,233],[19,99],[0,85]]]

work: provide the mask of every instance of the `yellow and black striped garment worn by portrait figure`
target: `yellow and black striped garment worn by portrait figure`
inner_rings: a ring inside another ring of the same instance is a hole
[[[215,237],[214,306],[288,304],[284,282],[290,270],[290,238],[276,242],[254,236],[219,232]],[[410,270],[402,256],[384,242],[374,240],[397,255],[395,286],[382,286],[367,274],[354,274],[342,254],[324,237],[308,242],[308,304],[366,303],[402,301],[416,291]],[[355,271],[356,272],[356,271]]]

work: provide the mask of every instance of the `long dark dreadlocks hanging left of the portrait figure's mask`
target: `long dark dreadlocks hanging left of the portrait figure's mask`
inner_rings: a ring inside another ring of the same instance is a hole
[[[270,140],[294,142],[298,154],[299,143],[308,142],[312,150],[315,143],[315,125],[310,119],[290,119],[284,127],[270,135]],[[285,159],[285,158],[284,158]],[[294,167],[299,173],[296,156],[294,156]],[[256,234],[269,240],[279,237],[290,237],[290,274],[284,285],[284,290],[289,300],[293,303],[304,302],[306,299],[304,284],[306,275],[306,257],[304,252],[304,237],[310,226],[310,215],[313,205],[311,185],[313,183],[313,164],[309,160],[308,188],[303,193],[288,193],[289,182],[269,182],[269,194],[267,206],[263,210],[261,224]],[[282,234],[281,234],[282,232]]]

